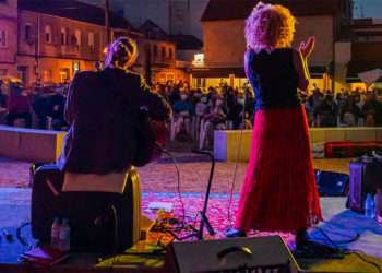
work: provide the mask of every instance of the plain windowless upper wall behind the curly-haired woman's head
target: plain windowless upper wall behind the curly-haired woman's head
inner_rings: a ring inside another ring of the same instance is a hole
[[[309,36],[317,37],[311,64],[327,66],[333,60],[333,20],[331,16],[298,17],[294,46]],[[203,23],[206,66],[241,67],[246,51],[244,21],[213,21]]]

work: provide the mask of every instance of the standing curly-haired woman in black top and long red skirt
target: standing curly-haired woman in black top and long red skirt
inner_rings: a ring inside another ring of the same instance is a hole
[[[322,219],[306,111],[297,90],[309,85],[308,59],[314,37],[291,48],[295,17],[279,4],[258,3],[246,21],[246,73],[255,92],[250,161],[235,227],[294,232],[297,245]]]

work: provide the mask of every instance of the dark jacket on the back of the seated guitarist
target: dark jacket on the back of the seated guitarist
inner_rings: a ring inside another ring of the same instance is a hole
[[[166,120],[170,110],[145,87],[141,76],[120,69],[75,74],[68,92],[64,117],[70,124],[57,164],[79,174],[124,171],[136,149],[136,115],[147,107],[153,119]]]

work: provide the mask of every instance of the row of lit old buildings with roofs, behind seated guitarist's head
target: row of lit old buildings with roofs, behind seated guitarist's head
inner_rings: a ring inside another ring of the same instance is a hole
[[[139,46],[132,70],[152,83],[188,80],[167,35],[141,33],[114,12],[107,32],[105,15],[103,7],[75,0],[0,0],[0,76],[25,86],[67,83],[76,71],[95,70],[115,38],[130,36]]]

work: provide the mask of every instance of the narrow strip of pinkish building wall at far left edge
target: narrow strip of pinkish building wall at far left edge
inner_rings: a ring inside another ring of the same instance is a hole
[[[0,2],[0,76],[16,76],[17,1]]]

